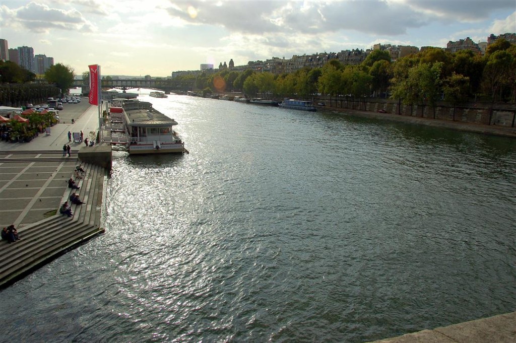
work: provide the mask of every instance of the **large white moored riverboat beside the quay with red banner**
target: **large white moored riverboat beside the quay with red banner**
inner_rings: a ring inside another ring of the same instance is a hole
[[[111,107],[111,113],[122,113],[128,133],[129,154],[185,153],[184,142],[173,126],[178,125],[152,104],[137,99]]]

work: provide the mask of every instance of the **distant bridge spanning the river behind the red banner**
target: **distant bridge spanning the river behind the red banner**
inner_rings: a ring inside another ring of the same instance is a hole
[[[176,81],[171,79],[103,79],[101,80],[102,88],[118,88],[122,90],[132,88],[152,88],[165,92],[171,91],[189,91],[193,90],[195,81]],[[83,93],[89,92],[89,84],[83,79],[76,79],[73,83],[74,87],[82,87]]]

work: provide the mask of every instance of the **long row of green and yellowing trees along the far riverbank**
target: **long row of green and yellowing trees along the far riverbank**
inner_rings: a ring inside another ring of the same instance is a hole
[[[462,50],[449,53],[429,48],[391,62],[389,52],[375,50],[357,66],[330,60],[322,68],[304,68],[291,74],[223,70],[180,80],[195,81],[197,89],[243,91],[249,96],[299,97],[315,94],[354,97],[381,96],[406,104],[454,104],[469,99],[516,100],[516,44],[499,39],[485,55]]]

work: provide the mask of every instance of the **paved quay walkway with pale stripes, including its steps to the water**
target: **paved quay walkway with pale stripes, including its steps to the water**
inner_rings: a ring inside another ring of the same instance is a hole
[[[72,193],[68,179],[81,163],[79,151],[88,149],[84,143],[69,142],[68,131],[89,137],[98,127],[97,108],[83,98],[79,104],[67,104],[59,115],[61,123],[51,127],[51,135],[40,134],[26,143],[0,142],[0,226],[14,224],[21,238],[0,242],[0,288],[104,232],[107,171],[102,167],[83,164],[76,193],[85,203],[71,205],[71,218],[58,211]],[[63,156],[63,144],[72,147],[70,157]]]

